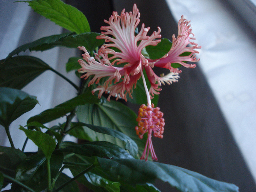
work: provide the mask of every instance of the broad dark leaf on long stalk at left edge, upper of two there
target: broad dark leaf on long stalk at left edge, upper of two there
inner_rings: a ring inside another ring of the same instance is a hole
[[[17,56],[0,61],[0,86],[22,89],[37,76],[52,69],[41,59],[32,56]]]

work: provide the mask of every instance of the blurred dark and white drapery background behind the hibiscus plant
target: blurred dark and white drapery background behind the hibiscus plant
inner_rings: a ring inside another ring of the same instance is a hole
[[[63,0],[64,1],[64,0]],[[256,191],[256,2],[255,0],[65,0],[82,11],[91,31],[100,33],[112,11],[140,11],[141,23],[151,34],[161,28],[162,37],[177,36],[181,15],[191,20],[195,42],[202,46],[195,69],[182,68],[178,83],[162,86],[158,106],[164,113],[162,140],[154,139],[158,162],[199,172],[236,184],[241,192]],[[27,3],[0,0],[0,59],[16,47],[38,38],[66,32],[33,12]],[[140,23],[140,25],[141,25]],[[53,48],[25,52],[65,72],[76,49]],[[154,68],[157,70],[157,68]],[[159,74],[161,70],[157,71]],[[71,73],[68,77],[79,84]],[[29,117],[72,97],[75,89],[46,71],[23,91],[37,96],[40,105],[11,124],[15,146],[22,147],[25,134],[18,130]],[[137,113],[138,106],[128,103]],[[51,123],[50,123],[51,124]],[[51,125],[49,125],[51,126]],[[69,138],[72,139],[72,138]],[[0,145],[10,146],[0,127]],[[35,151],[31,143],[26,151]],[[157,182],[162,191],[169,185]],[[175,190],[174,190],[175,191]]]

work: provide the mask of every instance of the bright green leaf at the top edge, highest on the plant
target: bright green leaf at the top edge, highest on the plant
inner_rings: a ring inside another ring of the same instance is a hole
[[[82,12],[60,0],[24,1],[38,14],[77,34],[90,32],[89,23]]]

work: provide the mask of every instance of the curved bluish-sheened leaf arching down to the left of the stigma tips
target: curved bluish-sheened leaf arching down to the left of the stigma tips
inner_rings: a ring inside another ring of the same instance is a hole
[[[110,128],[106,128],[106,127],[100,127],[100,126],[96,126],[96,125],[91,125],[91,124],[86,124],[86,123],[73,123],[74,126],[86,126],[87,128],[98,132],[98,133],[103,133],[105,135],[111,135],[114,138],[118,138],[120,140],[122,140],[125,143],[125,149],[129,151],[129,153],[133,156],[133,157],[137,157],[138,155],[138,146],[137,144],[131,139],[129,138],[129,136],[125,135],[124,133],[114,130],[114,129],[110,129]]]

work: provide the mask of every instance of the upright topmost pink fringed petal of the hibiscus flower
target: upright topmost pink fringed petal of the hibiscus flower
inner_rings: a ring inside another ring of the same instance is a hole
[[[115,59],[112,64],[117,63],[134,63],[138,60],[142,61],[142,65],[147,65],[148,61],[142,56],[141,51],[147,45],[157,45],[161,41],[160,28],[158,32],[153,32],[151,36],[147,36],[150,27],[145,28],[142,24],[142,28],[135,36],[135,29],[140,22],[140,13],[136,4],[133,5],[132,12],[125,12],[123,10],[120,16],[117,12],[113,12],[113,15],[109,20],[104,20],[109,26],[102,26],[102,35],[99,35],[97,39],[105,39],[105,42],[112,42],[110,44],[104,44],[108,54],[113,56],[109,58]],[[141,41],[137,46],[137,42]],[[116,52],[111,47],[118,48],[121,52]],[[143,58],[144,59],[143,59]]]

